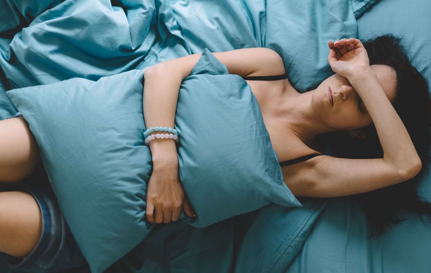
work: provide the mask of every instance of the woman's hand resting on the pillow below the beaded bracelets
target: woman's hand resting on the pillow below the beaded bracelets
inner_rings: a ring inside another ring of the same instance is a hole
[[[148,182],[147,189],[147,220],[150,223],[168,224],[177,221],[181,214],[181,206],[184,212],[194,217],[190,203],[184,194],[179,174],[178,161],[165,164],[164,167],[153,168],[153,173]]]

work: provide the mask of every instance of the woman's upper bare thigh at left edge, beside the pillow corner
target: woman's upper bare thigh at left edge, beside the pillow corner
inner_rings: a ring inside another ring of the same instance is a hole
[[[0,120],[0,182],[18,183],[39,159],[34,135],[23,117]]]

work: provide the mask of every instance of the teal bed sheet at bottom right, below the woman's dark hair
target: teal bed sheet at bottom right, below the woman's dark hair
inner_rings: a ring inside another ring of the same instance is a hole
[[[400,215],[408,219],[383,236],[365,239],[370,224],[362,208],[348,197],[334,198],[297,256],[284,264],[284,270],[274,272],[430,272],[431,227],[410,212]]]

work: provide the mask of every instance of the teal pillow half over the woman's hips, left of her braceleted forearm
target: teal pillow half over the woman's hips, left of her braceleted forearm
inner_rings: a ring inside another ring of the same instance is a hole
[[[93,273],[154,227],[145,218],[151,155],[142,138],[143,72],[6,92],[36,137],[61,212]]]

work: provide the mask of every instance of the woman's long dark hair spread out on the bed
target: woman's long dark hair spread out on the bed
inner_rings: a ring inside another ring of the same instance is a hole
[[[350,196],[362,206],[372,224],[371,234],[367,237],[369,239],[386,232],[393,226],[391,224],[406,220],[400,217],[400,209],[417,212],[423,224],[431,223],[425,221],[424,217],[431,218],[431,203],[425,202],[416,192],[431,163],[431,98],[428,82],[409,61],[402,38],[384,34],[361,42],[367,50],[370,65],[386,64],[396,71],[396,97],[392,105],[422,161],[421,171],[412,179]],[[328,144],[335,156],[343,158],[383,158],[374,123],[363,129],[365,138],[352,138],[349,132],[328,132],[319,135],[319,143]]]

